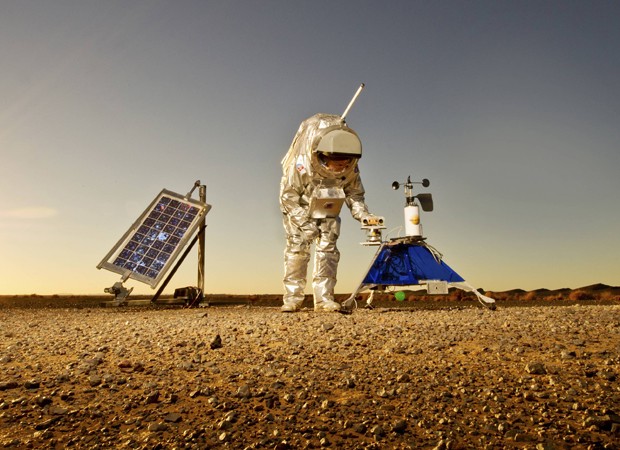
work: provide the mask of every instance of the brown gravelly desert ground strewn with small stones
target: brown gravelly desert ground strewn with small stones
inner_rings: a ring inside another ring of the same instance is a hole
[[[620,303],[0,309],[0,448],[620,448]]]

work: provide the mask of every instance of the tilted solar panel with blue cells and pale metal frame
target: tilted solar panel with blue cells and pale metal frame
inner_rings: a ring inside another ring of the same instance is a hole
[[[154,288],[211,209],[163,189],[97,265]]]

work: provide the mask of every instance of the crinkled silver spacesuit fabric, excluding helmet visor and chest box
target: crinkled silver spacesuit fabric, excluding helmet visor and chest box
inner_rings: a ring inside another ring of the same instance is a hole
[[[304,299],[310,246],[315,244],[312,278],[315,309],[334,301],[334,287],[340,252],[336,241],[340,235],[340,217],[312,219],[310,199],[320,185],[340,187],[345,193],[345,204],[352,216],[361,221],[370,216],[364,201],[364,187],[357,161],[347,173],[337,178],[313,165],[313,151],[325,130],[344,127],[340,116],[316,114],[301,123],[288,153],[282,160],[280,182],[280,209],[286,232],[284,251],[285,306],[299,307]],[[351,130],[352,131],[352,130]]]

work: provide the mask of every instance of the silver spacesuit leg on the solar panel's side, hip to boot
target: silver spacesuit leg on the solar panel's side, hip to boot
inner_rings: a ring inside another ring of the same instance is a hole
[[[306,242],[284,217],[286,249],[284,250],[284,296],[282,311],[294,312],[301,308],[305,298],[306,276],[310,261],[310,243]]]

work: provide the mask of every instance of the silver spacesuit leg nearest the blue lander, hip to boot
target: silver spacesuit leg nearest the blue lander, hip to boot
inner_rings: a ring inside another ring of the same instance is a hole
[[[340,217],[323,219],[319,225],[320,235],[314,251],[314,276],[312,288],[316,311],[338,311],[340,304],[334,300],[336,273],[340,251],[336,241],[340,235]]]

